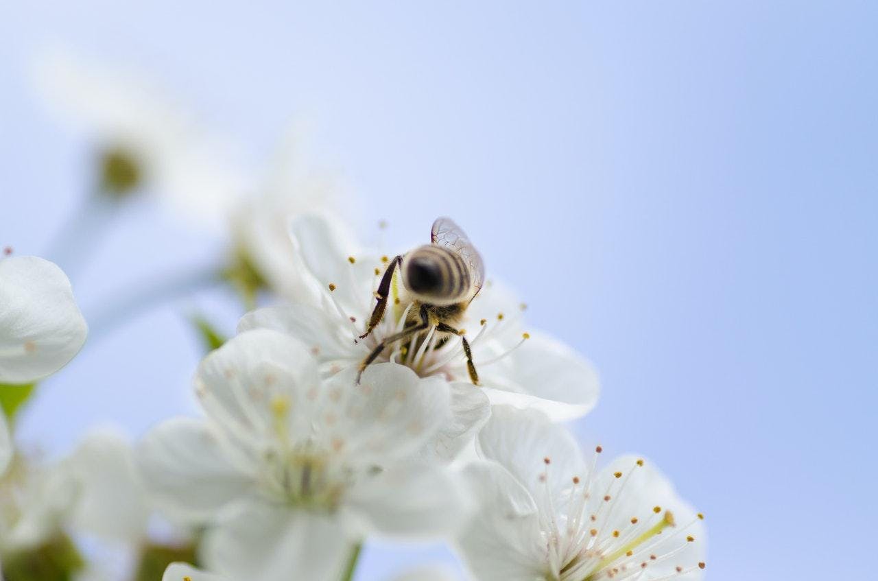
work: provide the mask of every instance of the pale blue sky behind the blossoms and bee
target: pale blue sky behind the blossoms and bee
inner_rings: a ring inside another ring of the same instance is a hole
[[[46,47],[160,82],[249,159],[306,118],[363,233],[386,219],[405,248],[453,216],[532,325],[594,361],[574,429],[707,514],[709,578],[871,569],[875,4],[122,4],[0,4],[0,245],[45,253],[88,182],[90,144],[29,80]],[[88,318],[221,247],[136,202],[77,298]],[[195,311],[237,315],[207,291],[93,336],[22,435],[61,450],[191,410]],[[357,578],[449,558],[371,545]]]

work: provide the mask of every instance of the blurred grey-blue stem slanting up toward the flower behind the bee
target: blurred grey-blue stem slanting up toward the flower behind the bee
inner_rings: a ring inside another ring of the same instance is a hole
[[[134,315],[161,305],[173,298],[222,282],[221,269],[215,266],[185,269],[166,276],[153,276],[148,283],[134,284],[128,291],[113,293],[121,298],[100,303],[104,308],[89,320],[92,341],[124,323]]]

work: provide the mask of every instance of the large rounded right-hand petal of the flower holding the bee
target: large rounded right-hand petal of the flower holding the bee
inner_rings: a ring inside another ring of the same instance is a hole
[[[564,343],[536,332],[484,376],[492,404],[538,409],[554,421],[590,412],[601,391],[591,363]]]

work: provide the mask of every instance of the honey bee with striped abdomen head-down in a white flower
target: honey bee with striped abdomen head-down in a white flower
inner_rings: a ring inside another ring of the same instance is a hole
[[[378,355],[397,341],[410,340],[420,336],[421,340],[435,327],[435,332],[461,337],[466,356],[466,369],[473,384],[479,384],[479,374],[472,362],[470,343],[464,333],[457,329],[463,319],[467,306],[479,294],[485,281],[485,262],[479,251],[472,246],[463,228],[449,218],[438,218],[430,229],[430,244],[414,248],[405,255],[394,256],[387,265],[378,291],[377,303],[372,311],[366,332],[360,335],[365,339],[372,329],[381,322],[390,298],[393,274],[399,269],[402,286],[411,299],[402,331],[384,338],[360,363],[356,383],[369,364]]]

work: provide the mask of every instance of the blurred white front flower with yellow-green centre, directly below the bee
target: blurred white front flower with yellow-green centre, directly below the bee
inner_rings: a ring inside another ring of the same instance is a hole
[[[450,416],[445,382],[376,365],[327,380],[305,346],[257,329],[213,351],[196,391],[207,418],[169,420],[140,449],[169,514],[213,521],[205,563],[248,579],[333,578],[366,534],[449,534],[464,494],[414,455]]]

